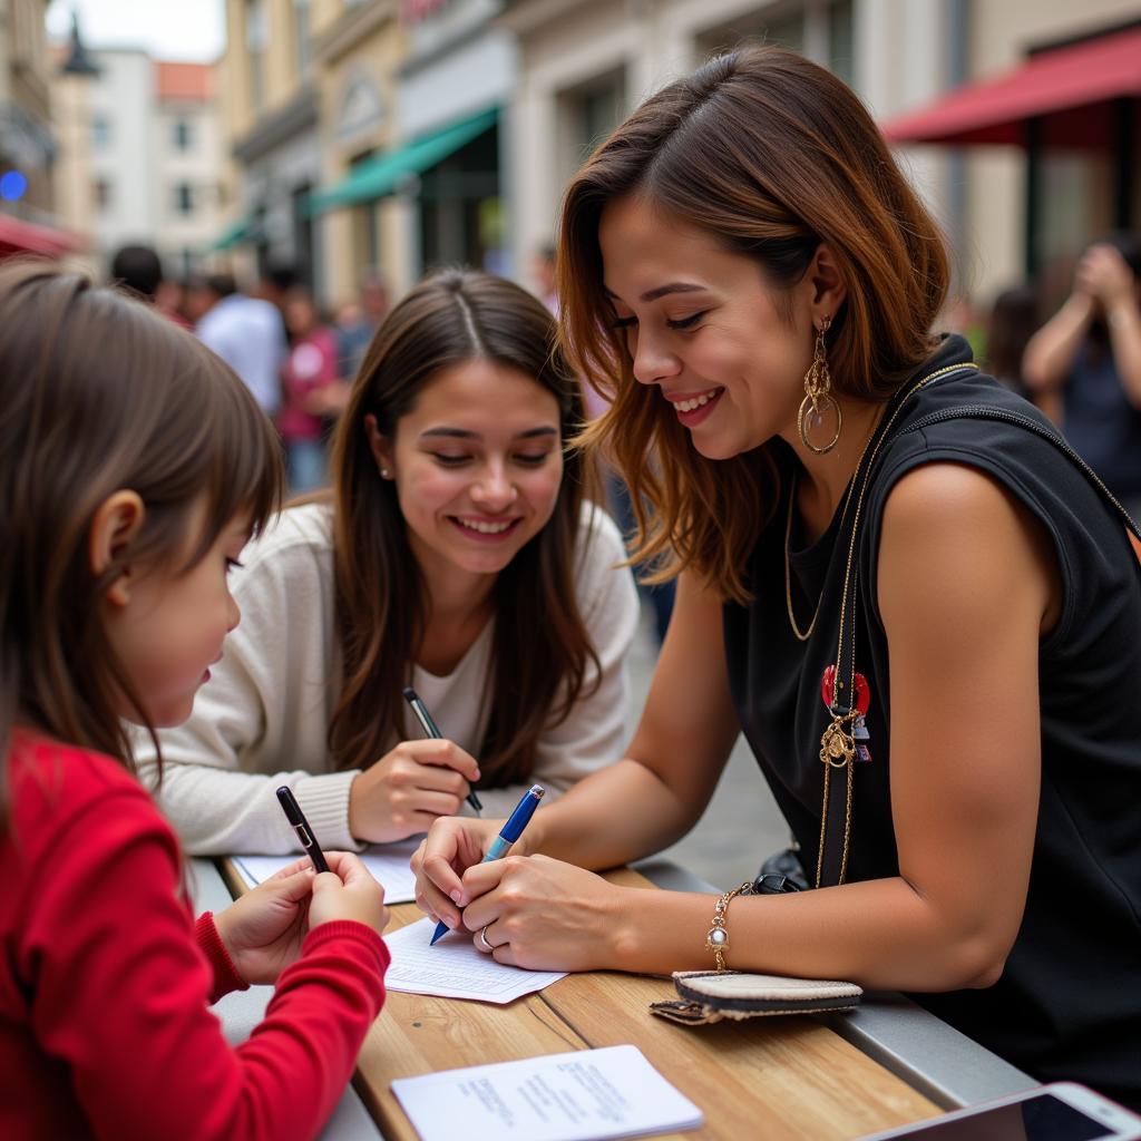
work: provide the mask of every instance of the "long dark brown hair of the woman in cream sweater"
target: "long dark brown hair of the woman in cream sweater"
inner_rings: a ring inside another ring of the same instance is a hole
[[[474,270],[418,285],[369,347],[333,444],[335,629],[342,688],[329,727],[340,768],[367,768],[403,736],[402,690],[427,625],[424,583],[391,483],[380,479],[364,418],[393,438],[423,387],[443,370],[486,358],[508,365],[558,400],[561,438],[583,420],[582,396],[556,347],[555,321],[529,293]],[[487,784],[529,775],[544,728],[569,713],[598,657],[574,580],[588,466],[565,461],[555,511],[493,591],[495,631],[487,733],[479,767]]]

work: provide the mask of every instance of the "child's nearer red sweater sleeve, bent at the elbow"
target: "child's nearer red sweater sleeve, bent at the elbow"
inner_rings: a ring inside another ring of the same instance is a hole
[[[64,1062],[102,1138],[311,1138],[383,1001],[388,953],[359,923],[307,937],[236,1049],[177,898],[173,836],[137,785],[70,818],[42,853],[21,940],[37,1041]],[[210,923],[212,928],[212,923]]]

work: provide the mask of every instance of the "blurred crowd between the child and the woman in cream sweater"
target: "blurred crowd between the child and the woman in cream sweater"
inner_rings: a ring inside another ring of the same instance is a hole
[[[291,494],[326,483],[332,426],[388,311],[383,281],[367,276],[358,296],[330,315],[292,266],[268,267],[243,291],[229,274],[167,277],[153,249],[128,245],[111,276],[193,330],[242,378],[277,426]]]

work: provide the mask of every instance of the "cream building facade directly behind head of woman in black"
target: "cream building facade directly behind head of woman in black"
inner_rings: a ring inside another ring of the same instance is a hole
[[[650,92],[744,42],[801,51],[859,91],[877,115],[932,97],[945,83],[947,0],[509,0],[517,40],[511,105],[513,262],[553,236],[567,180]],[[913,175],[949,229],[956,205],[947,161]],[[535,283],[532,283],[535,284]]]

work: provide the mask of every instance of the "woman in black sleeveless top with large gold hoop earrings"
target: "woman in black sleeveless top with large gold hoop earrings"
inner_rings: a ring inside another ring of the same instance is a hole
[[[672,560],[677,609],[626,756],[504,860],[478,863],[493,822],[438,822],[423,905],[524,966],[909,992],[1138,1104],[1132,525],[931,334],[944,244],[866,110],[791,52],[707,63],[574,178],[559,265],[572,362],[613,394],[585,444],[646,504],[636,557]],[[584,871],[690,828],[741,731],[819,890]]]

